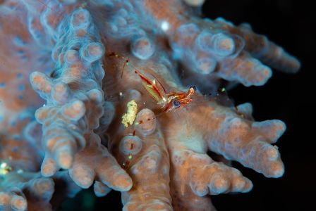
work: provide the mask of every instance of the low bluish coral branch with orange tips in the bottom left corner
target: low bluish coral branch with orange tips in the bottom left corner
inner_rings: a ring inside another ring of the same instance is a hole
[[[73,186],[68,178],[67,172],[59,172],[54,178],[44,178],[38,173],[12,172],[0,186],[0,209],[52,210],[49,201],[55,191],[54,187],[59,183],[63,183],[62,190],[65,196],[72,197],[80,191],[80,188]]]

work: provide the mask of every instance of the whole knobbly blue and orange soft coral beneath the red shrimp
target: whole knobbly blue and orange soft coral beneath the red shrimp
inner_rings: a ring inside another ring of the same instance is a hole
[[[0,210],[51,210],[92,184],[123,210],[214,210],[211,195],[253,187],[229,160],[284,174],[284,122],[221,95],[300,63],[248,24],[200,18],[203,2],[0,3]],[[197,90],[164,112],[135,72],[157,98]]]

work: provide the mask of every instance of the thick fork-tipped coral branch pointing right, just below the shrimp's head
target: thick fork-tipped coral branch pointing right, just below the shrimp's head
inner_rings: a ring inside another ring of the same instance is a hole
[[[202,113],[208,115],[201,118]],[[281,177],[284,173],[279,151],[270,145],[284,133],[284,122],[253,122],[244,119],[236,110],[218,106],[217,103],[199,106],[186,118],[203,122],[187,129],[192,141],[185,142],[187,147],[193,146],[197,152],[205,151],[208,147],[210,151],[224,155],[226,159],[237,160],[266,177]]]

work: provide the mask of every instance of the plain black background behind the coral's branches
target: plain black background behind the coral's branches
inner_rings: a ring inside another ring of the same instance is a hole
[[[286,122],[286,133],[277,142],[286,171],[284,177],[267,179],[234,163],[234,167],[253,181],[254,188],[250,193],[212,196],[219,211],[316,210],[312,206],[316,196],[316,11],[310,2],[208,0],[203,7],[209,18],[223,17],[235,25],[250,23],[255,32],[267,35],[302,63],[296,75],[274,71],[265,86],[239,86],[229,92],[237,104],[253,103],[255,120]],[[121,210],[121,207],[121,194],[116,191],[95,198],[91,190],[85,190],[63,203],[61,210]]]

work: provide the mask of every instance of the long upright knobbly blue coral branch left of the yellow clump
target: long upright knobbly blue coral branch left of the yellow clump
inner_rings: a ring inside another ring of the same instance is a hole
[[[132,184],[130,177],[92,132],[103,115],[104,70],[99,59],[104,47],[97,42],[99,35],[88,11],[74,11],[69,27],[57,42],[65,47],[57,54],[53,78],[40,72],[30,75],[35,91],[47,100],[35,114],[43,124],[47,150],[42,174],[49,177],[61,167],[70,169],[71,178],[82,188],[91,186],[96,177],[110,188],[127,191]],[[97,184],[96,191],[102,194],[100,188]]]

